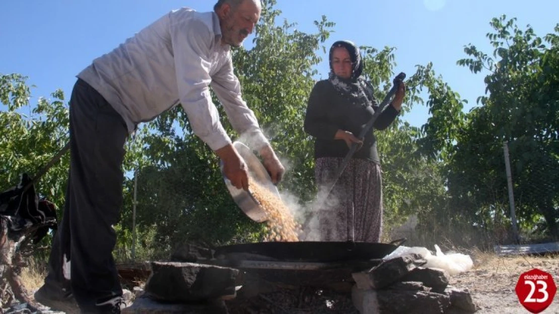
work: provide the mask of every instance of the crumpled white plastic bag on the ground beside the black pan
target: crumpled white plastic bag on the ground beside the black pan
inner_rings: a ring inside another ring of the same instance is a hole
[[[427,260],[427,264],[423,265],[423,267],[444,269],[451,276],[467,272],[472,269],[473,266],[470,255],[461,253],[444,254],[437,244],[435,244],[435,255],[427,248],[400,246],[391,254],[386,255],[384,259],[401,257],[411,253],[420,254],[421,257]]]

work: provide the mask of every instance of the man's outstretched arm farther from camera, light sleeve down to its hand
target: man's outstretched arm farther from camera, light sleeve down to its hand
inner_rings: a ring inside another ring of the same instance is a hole
[[[264,167],[272,177],[272,182],[280,182],[285,168],[262,133],[254,112],[250,110],[241,96],[239,79],[233,73],[233,61],[229,60],[212,76],[212,88],[221,101],[231,125],[246,144],[258,151],[263,158]]]

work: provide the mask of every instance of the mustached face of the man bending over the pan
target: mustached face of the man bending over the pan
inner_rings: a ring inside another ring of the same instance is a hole
[[[225,3],[217,12],[221,25],[221,41],[234,47],[240,47],[243,40],[252,33],[260,18],[259,2],[244,0],[236,8]]]

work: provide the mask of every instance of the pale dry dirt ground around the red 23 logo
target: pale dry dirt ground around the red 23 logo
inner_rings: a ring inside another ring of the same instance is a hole
[[[477,313],[529,313],[518,301],[514,288],[520,274],[533,268],[548,272],[559,285],[559,255],[540,257],[497,257],[476,254],[474,267],[467,273],[451,277],[449,284],[467,288],[476,305]],[[544,314],[559,314],[559,296],[555,296]]]

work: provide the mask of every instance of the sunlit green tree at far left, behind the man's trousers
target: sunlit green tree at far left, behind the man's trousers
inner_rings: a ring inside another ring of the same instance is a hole
[[[64,93],[56,90],[54,100],[39,98],[31,105],[30,88],[20,74],[0,74],[0,188],[17,185],[21,173],[35,173],[68,141],[68,108]],[[68,177],[68,155],[54,165],[36,185],[37,193],[59,205],[63,203]]]

